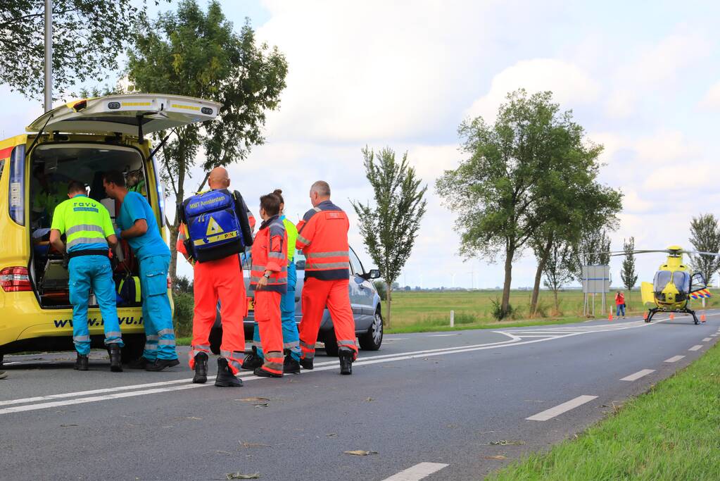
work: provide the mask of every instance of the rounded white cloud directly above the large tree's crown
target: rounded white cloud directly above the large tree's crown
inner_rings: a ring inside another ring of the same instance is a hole
[[[521,87],[530,94],[551,90],[554,101],[564,109],[594,102],[600,93],[598,83],[572,63],[556,58],[521,60],[493,77],[490,91],[475,100],[466,114],[470,117],[481,115],[491,122],[508,92]]]

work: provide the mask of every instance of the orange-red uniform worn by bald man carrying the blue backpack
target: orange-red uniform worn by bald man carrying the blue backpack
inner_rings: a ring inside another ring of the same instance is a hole
[[[248,217],[251,228],[254,228],[254,217],[249,212]],[[184,245],[186,238],[186,226],[181,224],[176,247],[187,259],[188,253]],[[193,290],[195,308],[192,318],[192,346],[189,352],[190,369],[195,369],[196,354],[204,352],[210,355],[210,330],[215,324],[217,301],[220,300],[222,318],[220,356],[228,360],[228,366],[233,374],[238,374],[245,355],[243,318],[248,315],[240,256],[233,254],[216,261],[194,263]]]

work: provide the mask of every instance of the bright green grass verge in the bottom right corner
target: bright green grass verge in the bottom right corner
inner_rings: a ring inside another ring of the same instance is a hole
[[[576,440],[487,480],[720,480],[720,348]]]

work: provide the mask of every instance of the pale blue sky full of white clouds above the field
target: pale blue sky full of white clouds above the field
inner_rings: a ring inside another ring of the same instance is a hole
[[[309,207],[312,181],[325,179],[349,211],[349,199],[372,199],[361,148],[408,151],[430,196],[399,282],[499,286],[500,264],[456,255],[454,216],[434,193],[435,180],[463,158],[462,120],[492,120],[508,91],[549,89],[588,138],[605,145],[601,180],[625,194],[613,249],[631,235],[638,248],[689,247],[690,217],[720,213],[720,4],[594,3],[223,1],[238,27],[250,17],[258,38],[289,63],[266,144],[230,169],[233,186],[253,210],[261,194],[282,188],[294,218]],[[0,94],[3,137],[40,114],[39,104],[6,86]],[[351,243],[368,269],[356,228]],[[639,259],[641,278],[661,260]],[[513,287],[531,285],[535,266],[527,252]],[[619,261],[612,268],[619,279]],[[183,261],[181,272],[189,274]]]

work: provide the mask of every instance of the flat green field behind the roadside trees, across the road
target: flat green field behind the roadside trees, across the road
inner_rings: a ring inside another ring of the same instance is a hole
[[[615,292],[614,289],[606,295],[606,305],[615,314]],[[628,313],[642,315],[646,308],[642,305],[639,291],[633,291],[629,296],[626,289],[625,301]],[[450,311],[455,311],[455,325],[463,326],[474,324],[498,324],[492,317],[493,301],[499,301],[503,295],[499,290],[482,291],[398,291],[392,293],[392,331],[396,329],[405,330],[411,326],[431,327],[449,326]],[[510,320],[503,320],[503,324],[510,321],[523,321],[531,319],[529,312],[531,291],[513,290],[510,291],[510,305],[516,313]],[[584,320],[582,318],[583,295],[580,290],[569,290],[558,293],[559,310],[555,310],[554,295],[552,291],[541,290],[539,297],[538,315],[535,320],[557,320],[572,322],[573,320]],[[718,297],[714,296],[707,300],[706,306],[716,307],[720,305]],[[592,310],[592,297],[590,297],[590,309]],[[601,315],[602,300],[600,295],[595,297],[595,315],[597,318],[607,318],[606,314]],[[701,309],[701,301],[693,301],[693,309]],[[383,314],[387,313],[387,305],[383,302]],[[591,311],[592,312],[592,311]]]

